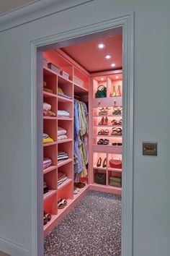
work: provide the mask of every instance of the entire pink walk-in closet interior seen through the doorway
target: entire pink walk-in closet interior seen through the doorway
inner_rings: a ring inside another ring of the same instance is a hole
[[[42,66],[45,255],[120,255],[122,29]]]

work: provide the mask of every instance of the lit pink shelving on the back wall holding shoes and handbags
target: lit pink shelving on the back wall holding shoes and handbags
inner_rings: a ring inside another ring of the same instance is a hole
[[[96,98],[96,92],[99,85],[104,85],[107,88],[106,98]],[[115,86],[115,90],[120,89],[120,94],[115,97],[112,96],[112,90]],[[116,72],[100,72],[91,75],[91,88],[89,92],[90,101],[90,113],[91,118],[89,120],[90,127],[90,141],[92,145],[89,145],[89,151],[91,152],[89,158],[89,165],[91,166],[90,174],[90,189],[95,189],[103,192],[110,192],[114,194],[121,194],[121,187],[113,187],[110,185],[109,177],[122,177],[122,170],[111,168],[109,166],[109,160],[112,158],[119,158],[122,160],[122,146],[112,145],[112,142],[122,143],[122,135],[112,135],[112,128],[121,128],[122,124],[113,125],[112,120],[117,120],[119,123],[122,119],[121,114],[114,114],[114,106],[122,107],[122,70]],[[101,108],[109,108],[107,114],[100,114]],[[105,124],[101,124],[102,118],[107,118]],[[99,132],[104,130],[107,135],[100,135]],[[100,139],[109,140],[108,145],[98,145]],[[101,166],[97,166],[97,161],[102,158]],[[107,166],[102,166],[104,158],[107,159]],[[106,184],[97,184],[95,182],[95,174],[105,174]]]

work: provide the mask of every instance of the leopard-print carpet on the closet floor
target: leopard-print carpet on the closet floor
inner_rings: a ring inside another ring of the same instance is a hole
[[[120,195],[89,191],[45,239],[45,256],[120,254]]]

